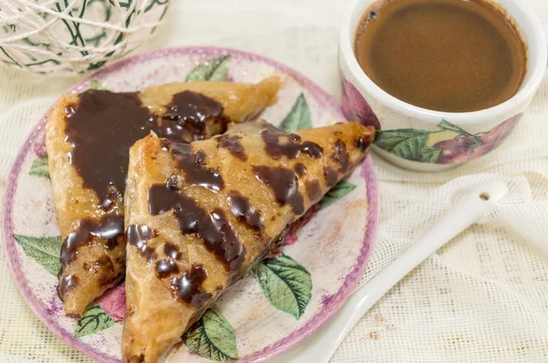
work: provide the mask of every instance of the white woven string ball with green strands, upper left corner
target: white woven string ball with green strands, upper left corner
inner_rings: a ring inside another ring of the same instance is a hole
[[[85,73],[147,40],[169,0],[0,0],[0,60],[38,73]]]

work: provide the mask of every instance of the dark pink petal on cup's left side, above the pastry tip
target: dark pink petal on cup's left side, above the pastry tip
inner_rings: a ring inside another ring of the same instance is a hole
[[[346,79],[342,79],[342,112],[347,119],[360,121],[364,125],[374,126],[381,130],[379,119],[364,99],[364,96],[353,87],[353,84]]]

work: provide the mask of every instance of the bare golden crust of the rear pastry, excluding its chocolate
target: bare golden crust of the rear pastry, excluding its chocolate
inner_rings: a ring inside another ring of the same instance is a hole
[[[267,78],[257,85],[236,83],[195,82],[176,83],[145,88],[140,93],[144,107],[151,114],[163,115],[175,94],[193,90],[204,94],[224,107],[229,121],[240,122],[255,117],[276,99],[279,78]],[[67,141],[67,115],[71,108],[78,107],[79,95],[68,94],[47,115],[47,154],[53,199],[58,215],[61,238],[65,241],[83,224],[82,221],[100,223],[109,216],[123,217],[121,196],[114,201],[107,213],[98,207],[97,192],[86,187],[84,181],[68,159],[72,145]],[[205,123],[205,138],[223,131],[218,123]],[[111,217],[109,217],[111,218]],[[102,295],[111,285],[123,277],[125,268],[125,237],[109,243],[105,238],[90,237],[90,241],[79,246],[78,253],[71,255],[60,278],[60,296],[65,302],[68,315],[79,316],[97,296]],[[105,246],[111,244],[109,248]],[[68,261],[68,259],[67,259]],[[78,283],[76,283],[78,282]]]

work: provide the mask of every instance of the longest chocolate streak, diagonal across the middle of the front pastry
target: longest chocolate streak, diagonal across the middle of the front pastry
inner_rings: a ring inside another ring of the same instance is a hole
[[[216,208],[212,213],[207,213],[194,199],[159,184],[151,186],[148,202],[149,211],[153,215],[173,210],[181,232],[195,233],[202,238],[205,247],[216,254],[229,271],[237,271],[243,264],[244,245],[221,209]]]

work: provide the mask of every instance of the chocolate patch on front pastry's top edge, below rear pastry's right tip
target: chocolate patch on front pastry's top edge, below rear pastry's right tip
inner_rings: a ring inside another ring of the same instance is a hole
[[[288,159],[295,159],[300,155],[300,152],[308,154],[311,158],[318,159],[321,157],[321,146],[312,141],[304,141],[301,143],[300,136],[297,134],[287,134],[279,131],[262,130],[260,132],[262,140],[265,142],[265,151],[269,156],[278,160],[282,156]],[[288,139],[288,142],[280,142],[279,139]]]

